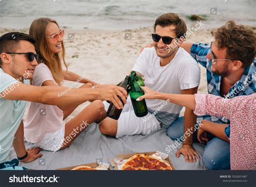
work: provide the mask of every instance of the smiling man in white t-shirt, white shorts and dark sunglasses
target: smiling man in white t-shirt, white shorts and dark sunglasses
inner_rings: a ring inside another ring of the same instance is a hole
[[[177,40],[184,37],[187,28],[182,19],[175,13],[165,13],[157,18],[152,34],[154,46],[145,48],[139,55],[132,70],[145,78],[144,84],[154,91],[173,94],[195,94],[200,82],[200,68],[197,61],[183,48],[178,47]],[[181,106],[169,100],[146,100],[149,114],[137,117],[134,114],[131,99],[127,99],[118,121],[110,117],[104,119],[99,126],[103,134],[125,136],[134,134],[150,134],[161,127],[168,128],[173,123],[181,123],[184,129],[196,124],[196,115],[186,108],[184,120],[179,119]],[[109,103],[105,102],[105,110]],[[175,133],[175,132],[173,132]],[[193,135],[191,135],[193,137]],[[189,161],[199,155],[192,147],[192,138],[183,142],[180,153]]]

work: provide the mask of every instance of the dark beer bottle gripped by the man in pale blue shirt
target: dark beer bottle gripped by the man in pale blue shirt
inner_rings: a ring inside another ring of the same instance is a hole
[[[129,85],[129,76],[126,76],[124,81],[120,82],[118,84],[118,86],[123,87],[126,91],[127,91],[127,87]],[[123,100],[118,96],[118,98],[122,101],[123,105],[124,102]],[[120,117],[120,114],[122,113],[123,109],[118,109],[116,106],[113,105],[112,102],[110,102],[110,106],[109,109],[107,109],[107,116],[111,117],[114,120],[118,120],[118,118]]]

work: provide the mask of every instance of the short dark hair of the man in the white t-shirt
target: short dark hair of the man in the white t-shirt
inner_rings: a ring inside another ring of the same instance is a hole
[[[176,33],[177,38],[186,35],[187,26],[183,19],[179,18],[177,13],[164,13],[163,15],[159,16],[154,23],[154,32],[156,32],[156,26],[170,26],[175,25],[176,28],[173,30]]]

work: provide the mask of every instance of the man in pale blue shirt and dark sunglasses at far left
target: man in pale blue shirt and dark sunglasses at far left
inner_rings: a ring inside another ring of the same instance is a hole
[[[35,39],[21,32],[10,32],[0,37],[0,169],[25,169],[18,167],[18,160],[31,162],[42,156],[39,154],[41,149],[26,150],[24,146],[22,117],[27,101],[57,105],[62,109],[68,109],[88,100],[112,100],[117,108],[122,108],[122,102],[114,99],[118,96],[126,103],[125,89],[113,85],[95,89],[29,85],[25,79],[32,79],[38,59],[33,44]],[[58,96],[67,89],[69,89],[68,93]],[[103,104],[101,107],[97,106],[98,109],[104,110]],[[18,160],[9,162],[11,146],[14,147]]]

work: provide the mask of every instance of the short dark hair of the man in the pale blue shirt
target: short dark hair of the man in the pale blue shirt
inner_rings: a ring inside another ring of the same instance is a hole
[[[26,40],[32,44],[36,43],[36,40],[33,37],[29,36],[29,34],[25,34],[22,32],[8,32],[0,37],[0,54],[6,52],[16,52],[19,48],[19,41]],[[0,58],[0,67],[2,65],[2,60]]]

